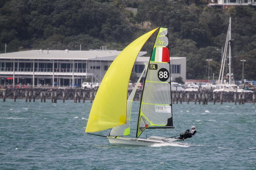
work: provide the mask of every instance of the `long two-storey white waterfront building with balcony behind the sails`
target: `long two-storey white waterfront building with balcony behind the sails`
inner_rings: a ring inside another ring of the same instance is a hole
[[[116,50],[30,50],[0,54],[0,85],[79,86],[101,82],[108,67],[121,51]],[[149,57],[140,52],[133,71],[140,76]],[[186,58],[171,57],[172,78],[186,80]],[[74,68],[74,69],[73,69]],[[144,74],[145,77],[145,74]],[[13,84],[14,80],[14,84]],[[74,83],[73,83],[74,82]]]

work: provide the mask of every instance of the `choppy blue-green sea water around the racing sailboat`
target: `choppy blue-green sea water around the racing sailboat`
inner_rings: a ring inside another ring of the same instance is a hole
[[[85,134],[91,106],[88,101],[1,100],[0,169],[256,169],[252,104],[175,104],[175,129],[145,130],[142,137],[175,136],[192,125],[196,136],[151,147],[112,145],[104,137]],[[133,106],[131,137],[139,103]]]

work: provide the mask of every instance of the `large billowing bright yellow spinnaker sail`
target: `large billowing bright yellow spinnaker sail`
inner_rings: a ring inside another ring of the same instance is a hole
[[[157,29],[129,44],[110,65],[93,101],[85,132],[98,132],[126,123],[127,91],[132,67],[142,46]]]

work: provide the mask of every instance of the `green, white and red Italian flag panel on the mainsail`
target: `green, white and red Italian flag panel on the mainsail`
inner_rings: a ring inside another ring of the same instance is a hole
[[[169,50],[166,47],[155,47],[152,52],[151,60],[153,62],[169,62]]]

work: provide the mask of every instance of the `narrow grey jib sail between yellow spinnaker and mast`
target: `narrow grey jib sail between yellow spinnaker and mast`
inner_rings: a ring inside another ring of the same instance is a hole
[[[137,90],[137,87],[140,83],[140,80],[141,80],[147,66],[148,66],[148,64],[146,64],[144,70],[142,71],[142,73],[140,75],[140,78],[138,79],[136,85],[132,89],[132,92],[131,92],[130,96],[127,99],[126,124],[123,124],[123,125],[116,126],[116,127],[112,128],[111,132],[109,133],[110,136],[127,136],[127,135],[130,135],[130,121],[131,121],[131,113],[132,113],[132,101],[133,101],[135,92]]]

